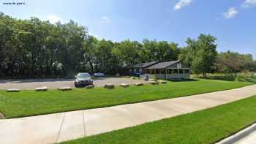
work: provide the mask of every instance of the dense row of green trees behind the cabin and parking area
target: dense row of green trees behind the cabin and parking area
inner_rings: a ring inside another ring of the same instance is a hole
[[[241,72],[255,70],[252,55],[217,53],[216,37],[201,34],[175,42],[144,39],[112,42],[89,35],[84,26],[49,23],[38,18],[18,20],[0,12],[0,76],[46,77],[77,72],[125,72],[132,64],[181,59],[193,72]],[[233,64],[232,61],[235,61]]]

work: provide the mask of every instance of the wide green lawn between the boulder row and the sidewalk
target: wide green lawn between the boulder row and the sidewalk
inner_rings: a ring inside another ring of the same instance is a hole
[[[152,86],[129,86],[129,88],[78,88],[72,91],[49,90],[46,92],[20,91],[7,93],[0,91],[0,113],[6,118],[17,118],[46,113],[59,113],[96,107],[108,107],[178,96],[202,94],[231,88],[248,86],[249,82],[222,80],[189,80],[167,82]]]

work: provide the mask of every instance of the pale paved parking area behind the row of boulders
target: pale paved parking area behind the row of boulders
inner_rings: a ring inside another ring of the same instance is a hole
[[[47,86],[50,89],[56,89],[64,86],[74,86],[75,79],[31,79],[31,80],[0,80],[0,89],[20,88],[34,89],[40,86]],[[94,85],[105,86],[106,83],[119,85],[121,83],[146,83],[144,80],[133,80],[126,77],[98,77],[94,79]]]

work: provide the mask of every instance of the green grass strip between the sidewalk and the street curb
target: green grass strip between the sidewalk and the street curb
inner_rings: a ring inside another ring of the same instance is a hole
[[[78,140],[75,143],[215,143],[256,121],[256,96]]]

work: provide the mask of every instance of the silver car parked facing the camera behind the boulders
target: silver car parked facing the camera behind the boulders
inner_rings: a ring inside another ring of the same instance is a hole
[[[93,85],[93,80],[88,72],[79,72],[75,77],[75,87]]]

